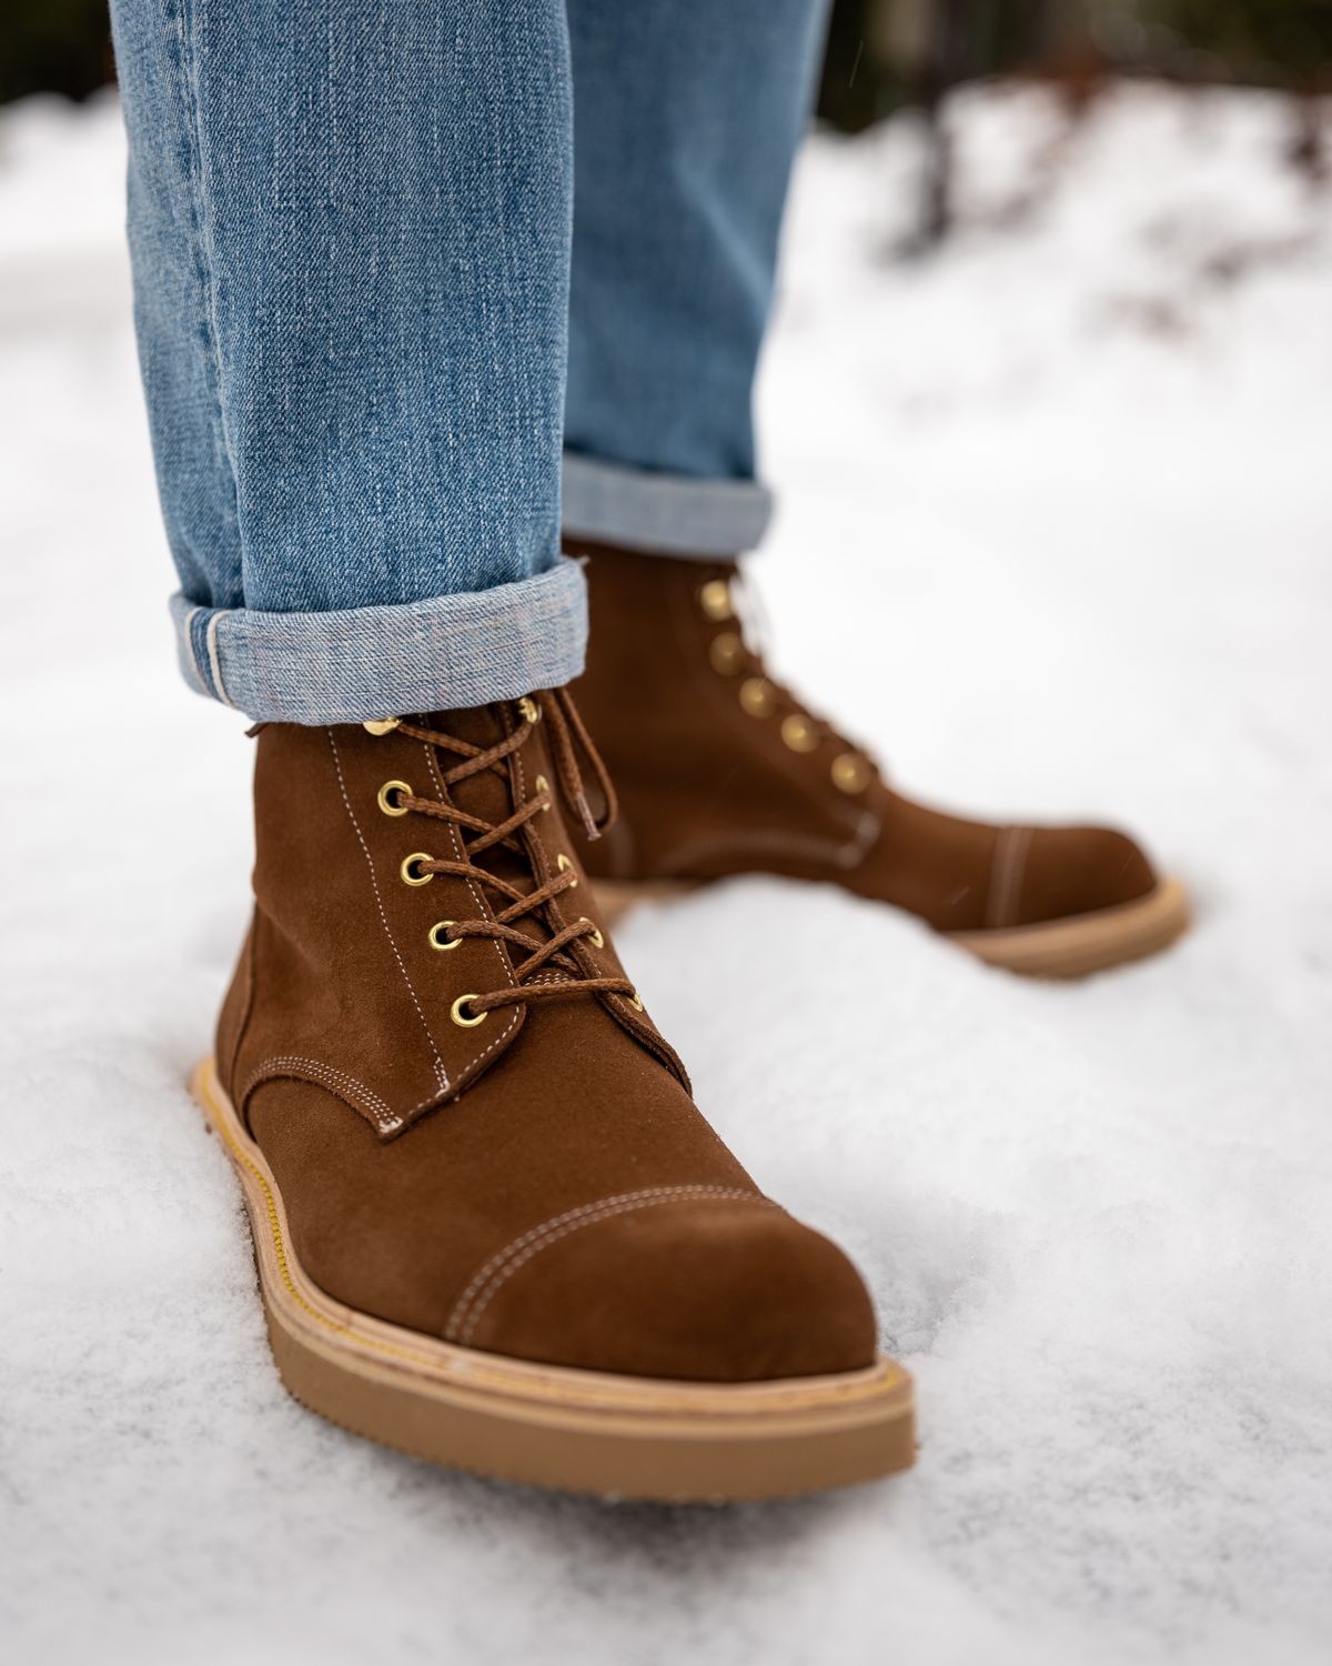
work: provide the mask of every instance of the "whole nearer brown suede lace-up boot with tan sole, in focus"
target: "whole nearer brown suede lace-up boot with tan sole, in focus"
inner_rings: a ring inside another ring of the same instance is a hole
[[[571,858],[564,691],[258,731],[255,916],[195,1091],[306,1406],[465,1469],[763,1498],[911,1463],[859,1274],[689,1098]],[[596,848],[594,845],[591,848]]]

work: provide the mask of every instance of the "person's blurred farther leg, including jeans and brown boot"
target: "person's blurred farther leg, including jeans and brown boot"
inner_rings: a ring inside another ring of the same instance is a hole
[[[768,518],[751,387],[823,12],[569,0],[564,536],[591,585],[578,698],[621,803],[584,861],[608,906],[766,870],[906,908],[1016,970],[1091,971],[1177,936],[1180,888],[1106,828],[902,798],[738,626],[736,556]]]

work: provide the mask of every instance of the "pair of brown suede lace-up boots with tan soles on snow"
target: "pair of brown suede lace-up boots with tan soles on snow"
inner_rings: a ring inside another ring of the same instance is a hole
[[[912,1459],[911,1381],[852,1264],[694,1108],[608,921],[764,871],[1074,975],[1170,941],[1184,896],[1119,833],[897,796],[766,675],[734,563],[573,553],[609,773],[566,690],[258,733],[255,916],[195,1090],[273,1353],[326,1418],[485,1474],[869,1479]]]

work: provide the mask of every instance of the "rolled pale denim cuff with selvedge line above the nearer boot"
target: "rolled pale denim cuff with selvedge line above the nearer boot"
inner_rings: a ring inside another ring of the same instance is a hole
[[[258,613],[171,596],[180,665],[201,695],[263,723],[360,723],[558,688],[583,670],[576,561],[491,590],[338,613]]]

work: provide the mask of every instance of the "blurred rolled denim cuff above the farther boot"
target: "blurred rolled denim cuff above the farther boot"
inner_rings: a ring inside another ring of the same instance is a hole
[[[711,560],[763,538],[773,495],[754,480],[694,480],[564,453],[566,538]]]

